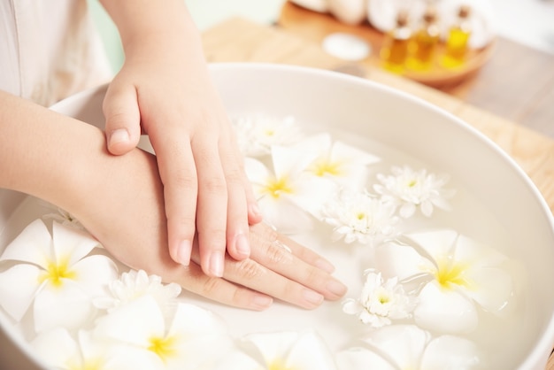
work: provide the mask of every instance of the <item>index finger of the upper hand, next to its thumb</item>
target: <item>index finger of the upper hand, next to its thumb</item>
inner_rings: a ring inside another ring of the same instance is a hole
[[[189,143],[187,135],[180,135],[169,137],[182,137],[184,143]],[[169,254],[175,262],[188,266],[196,232],[198,180],[194,156],[189,145],[158,143],[158,138],[150,138],[158,148],[158,168],[164,184]]]

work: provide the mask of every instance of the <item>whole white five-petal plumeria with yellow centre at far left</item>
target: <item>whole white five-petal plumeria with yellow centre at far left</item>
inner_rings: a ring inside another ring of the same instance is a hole
[[[81,328],[95,313],[91,299],[104,295],[117,277],[112,259],[88,256],[98,246],[82,230],[53,222],[50,235],[42,220],[35,220],[0,258],[9,266],[0,274],[0,305],[19,321],[33,304],[37,332]]]

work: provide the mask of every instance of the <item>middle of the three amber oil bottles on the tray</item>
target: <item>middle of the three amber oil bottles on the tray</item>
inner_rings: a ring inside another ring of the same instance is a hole
[[[412,35],[408,67],[413,70],[430,69],[435,62],[435,50],[441,37],[434,6],[429,6],[423,14],[419,29]]]

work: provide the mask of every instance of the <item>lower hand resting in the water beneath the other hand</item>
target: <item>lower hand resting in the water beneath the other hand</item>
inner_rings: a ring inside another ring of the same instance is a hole
[[[197,243],[189,266],[174,262],[165,248],[163,186],[154,156],[135,149],[101,162],[88,167],[88,197],[68,211],[127,266],[251,310],[267,308],[272,297],[312,309],[346,292],[331,276],[333,266],[327,260],[263,223],[250,227],[250,258],[237,261],[227,256],[222,278],[202,272]]]

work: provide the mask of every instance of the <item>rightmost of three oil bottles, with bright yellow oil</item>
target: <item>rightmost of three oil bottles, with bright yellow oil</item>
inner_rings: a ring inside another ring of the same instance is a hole
[[[470,15],[471,8],[469,6],[460,6],[457,22],[450,27],[446,39],[446,50],[442,58],[443,66],[456,67],[463,65],[472,32]]]

